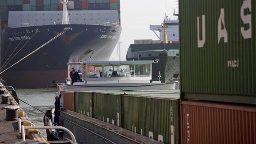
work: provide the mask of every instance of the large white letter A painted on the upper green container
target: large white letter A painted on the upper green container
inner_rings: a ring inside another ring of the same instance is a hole
[[[223,29],[221,25],[223,24]],[[224,43],[228,42],[228,32],[225,27],[225,19],[224,19],[224,8],[220,9],[220,18],[218,21],[218,44],[220,44],[220,39],[224,37]]]

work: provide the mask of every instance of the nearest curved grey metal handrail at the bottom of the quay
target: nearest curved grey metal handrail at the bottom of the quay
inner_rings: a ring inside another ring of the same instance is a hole
[[[21,126],[21,130],[22,130],[22,132],[24,132],[24,133],[22,133],[22,140],[23,140],[23,141],[25,141],[25,129],[62,129],[62,130],[67,131],[68,134],[71,136],[72,141],[73,141],[75,144],[77,144],[77,143],[76,143],[76,138],[75,138],[74,134],[73,134],[71,131],[69,131],[68,128],[64,128],[64,127],[62,127],[62,126],[24,127],[24,125],[22,125],[22,126]]]

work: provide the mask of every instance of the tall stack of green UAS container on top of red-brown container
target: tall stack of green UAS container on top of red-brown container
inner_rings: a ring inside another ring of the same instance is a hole
[[[182,144],[256,143],[255,0],[180,0]]]

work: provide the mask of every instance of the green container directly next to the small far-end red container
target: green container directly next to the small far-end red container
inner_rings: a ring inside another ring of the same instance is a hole
[[[92,117],[92,92],[76,92],[76,112]]]

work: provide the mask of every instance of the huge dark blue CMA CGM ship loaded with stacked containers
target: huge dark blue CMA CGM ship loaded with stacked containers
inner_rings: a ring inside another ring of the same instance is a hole
[[[108,60],[120,38],[120,0],[1,0],[0,11],[0,76],[16,88],[62,83],[68,62]]]

